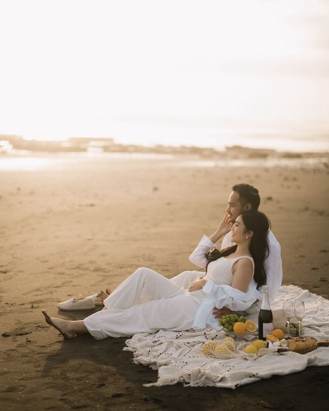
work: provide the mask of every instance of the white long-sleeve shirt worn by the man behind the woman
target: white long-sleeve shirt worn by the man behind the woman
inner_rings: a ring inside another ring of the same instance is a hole
[[[269,286],[269,301],[271,302],[273,301],[276,292],[278,292],[282,284],[282,261],[280,244],[271,231],[269,231],[268,233],[268,240],[269,256],[264,262],[264,268],[267,276],[266,284]],[[231,241],[231,234],[229,232],[223,238],[221,249],[230,247],[234,244],[235,243]],[[205,257],[205,253],[207,253],[211,249],[214,249],[215,247],[215,244],[207,236],[203,236],[188,259],[199,268],[204,269],[208,262]],[[260,292],[263,291],[262,288],[260,288],[259,290]]]

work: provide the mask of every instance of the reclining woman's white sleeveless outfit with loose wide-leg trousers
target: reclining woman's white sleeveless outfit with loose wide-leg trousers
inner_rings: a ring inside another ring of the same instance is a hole
[[[223,284],[229,285],[232,283],[233,260],[237,259],[220,258],[211,262],[208,269],[216,273],[219,282],[223,276]],[[99,340],[151,333],[159,329],[183,331],[193,327],[195,314],[204,298],[203,290],[188,292],[156,271],[141,268],[125,279],[104,301],[106,309],[86,317],[84,325]]]

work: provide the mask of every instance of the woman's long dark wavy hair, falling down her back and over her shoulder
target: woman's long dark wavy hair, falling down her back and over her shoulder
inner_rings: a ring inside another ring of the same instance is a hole
[[[251,238],[249,244],[249,251],[254,259],[255,270],[254,280],[257,283],[257,288],[263,286],[266,283],[266,272],[264,268],[264,261],[269,256],[269,243],[267,240],[267,234],[269,232],[269,219],[263,214],[263,212],[251,210],[241,214],[243,224],[245,225],[246,232],[252,231],[254,235]],[[213,249],[205,254],[208,264],[212,261],[218,260],[221,257],[230,256],[230,254],[236,251],[237,245],[222,249]],[[207,264],[207,268],[208,268]]]

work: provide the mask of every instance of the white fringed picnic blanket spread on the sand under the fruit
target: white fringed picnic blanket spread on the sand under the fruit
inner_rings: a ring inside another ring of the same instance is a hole
[[[280,312],[286,299],[304,300],[305,336],[317,340],[329,339],[329,300],[296,286],[282,286],[272,310]],[[256,321],[252,316],[248,317]],[[124,349],[134,353],[134,362],[158,369],[158,381],[147,386],[172,385],[216,386],[236,388],[244,384],[286,375],[306,369],[307,366],[328,366],[329,347],[318,347],[306,354],[270,352],[264,356],[219,359],[202,353],[208,340],[220,340],[226,335],[221,327],[202,331],[136,334],[126,341]]]

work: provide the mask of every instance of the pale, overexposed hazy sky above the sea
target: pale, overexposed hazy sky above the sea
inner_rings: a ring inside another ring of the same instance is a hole
[[[328,0],[0,0],[0,58],[0,134],[329,130]]]

